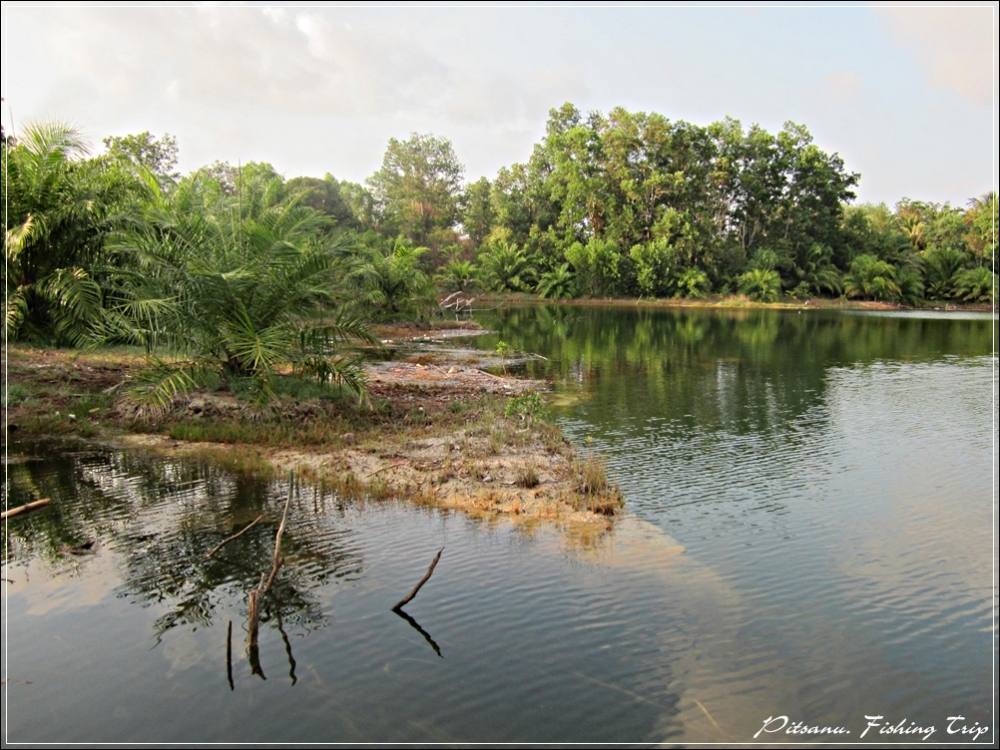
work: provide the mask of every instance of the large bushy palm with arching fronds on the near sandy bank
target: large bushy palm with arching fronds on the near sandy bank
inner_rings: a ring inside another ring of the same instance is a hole
[[[283,365],[363,395],[363,372],[345,349],[374,339],[338,294],[341,249],[316,239],[323,217],[276,195],[242,218],[188,211],[188,200],[184,188],[156,193],[109,241],[105,339],[172,355],[153,360],[132,398],[165,408],[221,379],[266,400]]]

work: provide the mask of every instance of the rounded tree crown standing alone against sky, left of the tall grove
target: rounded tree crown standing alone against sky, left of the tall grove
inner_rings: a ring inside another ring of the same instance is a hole
[[[434,230],[450,229],[458,218],[463,171],[446,138],[390,139],[381,168],[368,178],[380,229],[430,243]]]

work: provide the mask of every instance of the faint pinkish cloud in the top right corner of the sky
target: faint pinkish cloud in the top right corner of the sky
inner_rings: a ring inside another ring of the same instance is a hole
[[[995,6],[878,6],[876,12],[911,48],[931,81],[977,105],[993,102],[997,51]]]

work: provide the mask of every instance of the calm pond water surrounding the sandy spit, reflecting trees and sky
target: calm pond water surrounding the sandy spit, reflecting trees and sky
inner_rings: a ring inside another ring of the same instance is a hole
[[[882,714],[947,741],[948,715],[991,722],[989,316],[483,322],[476,346],[548,358],[531,367],[557,418],[625,492],[614,532],[15,446],[11,500],[53,505],[9,527],[8,739],[746,741],[769,715],[856,736]],[[245,594],[289,492],[261,679]],[[389,611],[442,545],[411,619]]]

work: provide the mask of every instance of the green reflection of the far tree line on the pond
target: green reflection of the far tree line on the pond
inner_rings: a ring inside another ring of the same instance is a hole
[[[597,432],[639,431],[656,417],[683,428],[773,433],[822,402],[831,368],[988,355],[988,319],[835,311],[521,306],[482,322],[529,373],[583,389],[577,414]],[[495,337],[480,337],[489,348]]]

